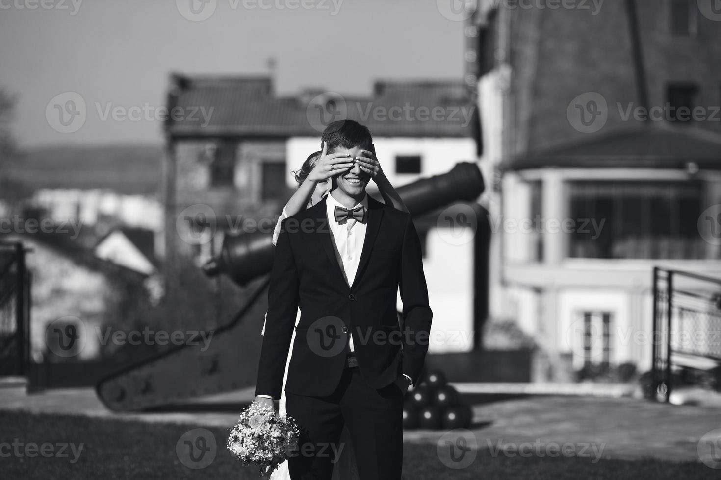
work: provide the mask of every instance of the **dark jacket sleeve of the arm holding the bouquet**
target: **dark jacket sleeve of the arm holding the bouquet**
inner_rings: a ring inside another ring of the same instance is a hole
[[[290,237],[282,227],[275,245],[273,271],[270,273],[265,335],[255,384],[256,395],[270,395],[274,399],[280,399],[298,313],[298,284],[298,270]]]

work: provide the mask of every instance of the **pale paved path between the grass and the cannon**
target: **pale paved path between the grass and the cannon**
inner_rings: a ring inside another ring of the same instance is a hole
[[[206,398],[200,403],[249,402],[251,390]],[[197,404],[198,402],[196,402]],[[178,422],[229,427],[236,412],[115,413],[107,410],[93,389],[58,389],[28,395],[23,386],[0,388],[0,410],[89,415],[120,420]],[[474,427],[480,448],[506,451],[521,443],[591,444],[603,458],[656,457],[698,461],[702,436],[721,428],[721,409],[658,404],[633,398],[526,397],[474,406]],[[406,441],[437,443],[444,432],[407,430]],[[545,447],[542,447],[545,448]]]

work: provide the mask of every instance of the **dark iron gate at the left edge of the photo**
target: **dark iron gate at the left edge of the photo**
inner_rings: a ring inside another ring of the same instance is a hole
[[[30,358],[30,272],[22,243],[0,242],[0,376],[25,375]]]

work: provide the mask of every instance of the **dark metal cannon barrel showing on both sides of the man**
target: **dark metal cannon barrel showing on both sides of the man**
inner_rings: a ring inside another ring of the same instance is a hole
[[[413,216],[425,214],[453,201],[474,201],[483,193],[483,176],[471,162],[456,163],[448,173],[421,178],[397,189]],[[252,232],[226,235],[221,253],[203,266],[208,276],[224,273],[245,285],[273,268],[273,234]]]

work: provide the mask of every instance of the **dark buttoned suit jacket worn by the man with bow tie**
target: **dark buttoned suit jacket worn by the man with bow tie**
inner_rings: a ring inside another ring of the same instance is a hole
[[[325,199],[283,221],[270,276],[256,395],[280,398],[298,307],[301,318],[286,391],[331,394],[345,368],[348,332],[353,332],[358,368],[368,386],[389,385],[399,373],[417,380],[433,317],[420,240],[410,214],[371,197],[367,222],[358,271],[348,286],[333,250]],[[396,308],[399,286],[402,325]]]

